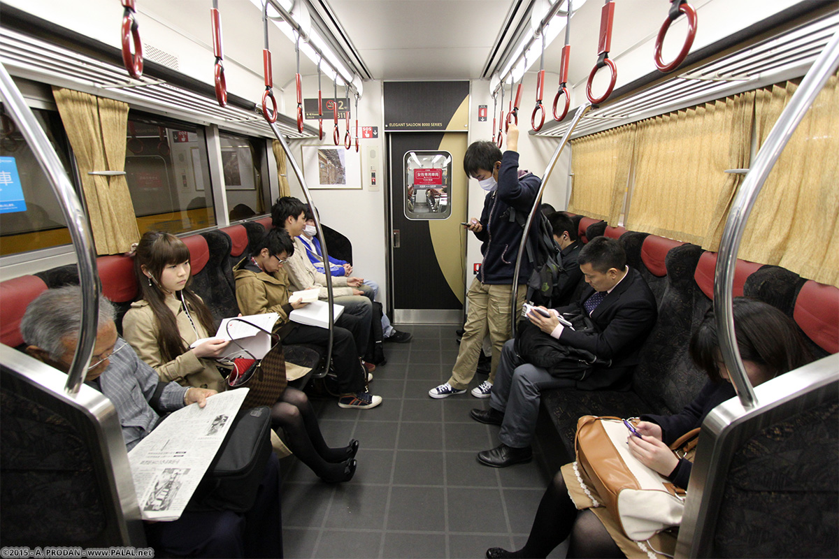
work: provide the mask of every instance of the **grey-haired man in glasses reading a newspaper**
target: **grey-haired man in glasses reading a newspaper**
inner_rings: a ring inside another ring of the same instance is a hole
[[[70,370],[81,308],[79,287],[41,293],[29,303],[20,323],[26,352],[58,370]],[[206,398],[216,391],[160,382],[154,369],[119,338],[114,316],[113,305],[100,296],[94,355],[85,384],[112,401],[125,445],[131,450],[157,426],[162,414],[193,403],[204,407]],[[178,520],[145,523],[144,528],[158,556],[282,556],[276,455],[270,454],[257,500],[247,512],[187,510]]]

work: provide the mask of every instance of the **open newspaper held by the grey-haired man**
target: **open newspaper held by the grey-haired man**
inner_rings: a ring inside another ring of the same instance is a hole
[[[247,395],[240,388],[181,408],[128,453],[143,520],[180,518]]]

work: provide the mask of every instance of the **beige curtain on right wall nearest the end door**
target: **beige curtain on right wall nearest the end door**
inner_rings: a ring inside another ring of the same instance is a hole
[[[568,210],[618,225],[633,160],[635,124],[571,142],[574,183]]]

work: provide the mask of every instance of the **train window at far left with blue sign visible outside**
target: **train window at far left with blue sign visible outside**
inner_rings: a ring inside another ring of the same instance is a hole
[[[55,111],[33,112],[72,177],[60,116]],[[70,232],[50,181],[2,104],[0,121],[0,255],[69,244]]]

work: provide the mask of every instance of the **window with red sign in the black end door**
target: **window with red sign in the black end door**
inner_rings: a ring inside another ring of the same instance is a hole
[[[404,212],[409,220],[445,220],[451,215],[451,153],[408,152]]]

